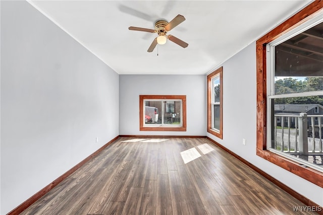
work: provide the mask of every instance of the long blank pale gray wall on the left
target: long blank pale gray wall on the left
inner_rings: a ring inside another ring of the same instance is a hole
[[[118,134],[119,75],[27,2],[1,1],[0,213]]]

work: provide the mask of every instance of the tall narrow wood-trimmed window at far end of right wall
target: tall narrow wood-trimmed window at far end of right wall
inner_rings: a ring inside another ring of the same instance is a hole
[[[207,76],[207,132],[222,138],[222,71]]]

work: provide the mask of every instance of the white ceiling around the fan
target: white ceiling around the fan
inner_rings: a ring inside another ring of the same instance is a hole
[[[309,1],[28,1],[118,74],[208,74]],[[186,20],[147,52],[159,19]]]

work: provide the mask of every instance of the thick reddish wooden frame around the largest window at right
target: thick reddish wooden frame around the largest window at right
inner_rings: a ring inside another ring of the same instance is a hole
[[[309,167],[304,167],[288,158],[268,151],[266,144],[266,44],[293,30],[310,20],[323,10],[323,1],[314,1],[303,10],[277,26],[256,41],[256,68],[257,68],[257,148],[256,154],[299,177],[323,187],[323,173]]]

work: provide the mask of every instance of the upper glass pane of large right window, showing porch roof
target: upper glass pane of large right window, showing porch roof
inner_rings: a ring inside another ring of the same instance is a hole
[[[275,95],[323,90],[320,23],[275,46]]]

